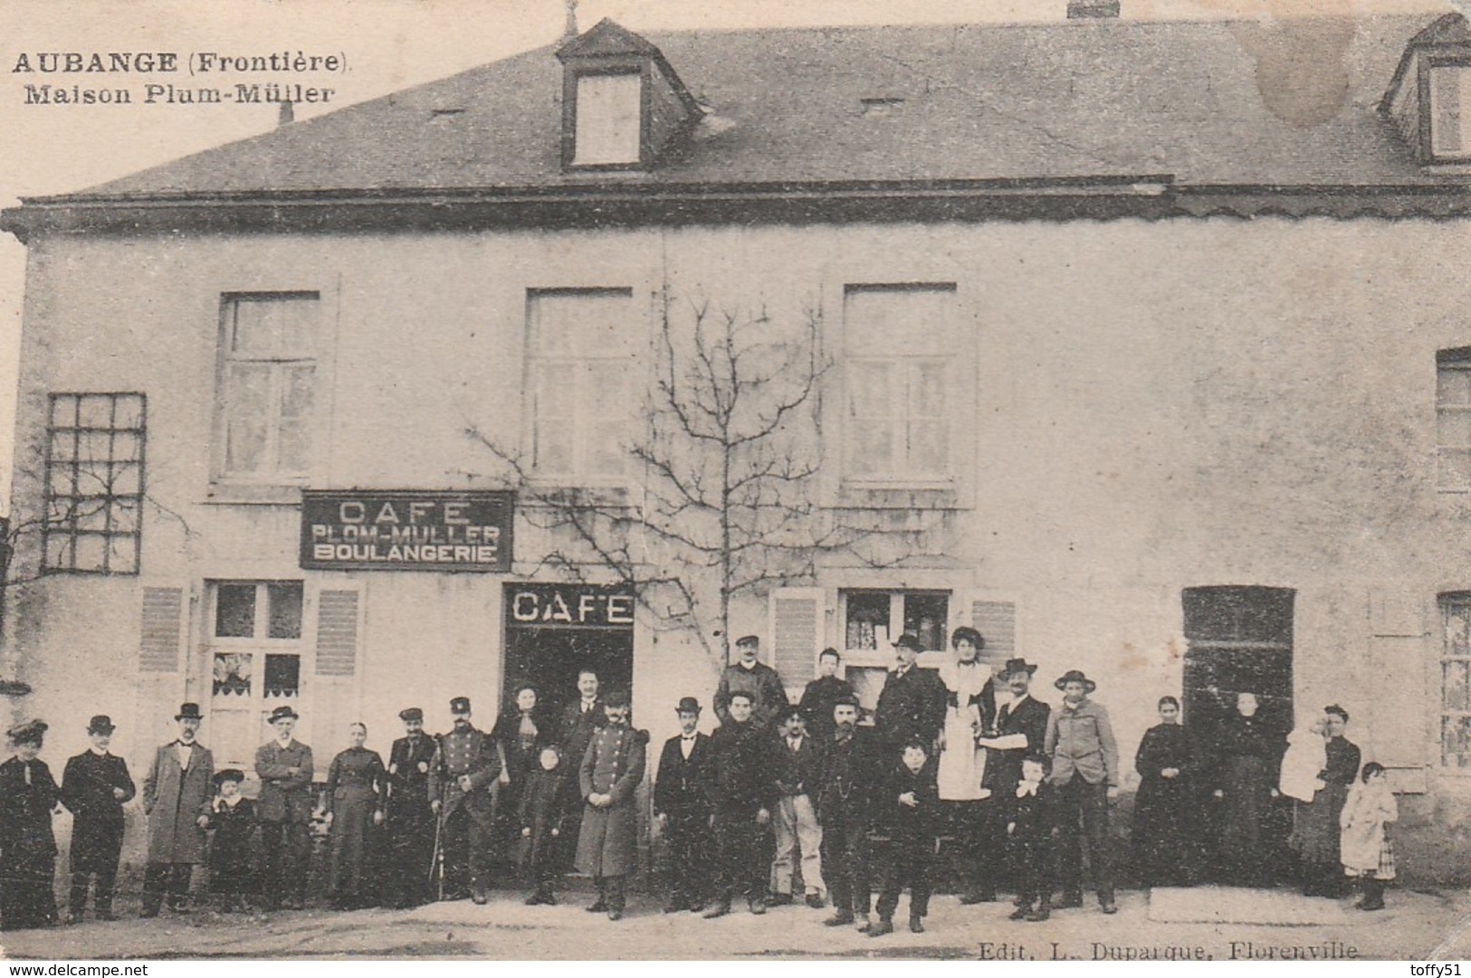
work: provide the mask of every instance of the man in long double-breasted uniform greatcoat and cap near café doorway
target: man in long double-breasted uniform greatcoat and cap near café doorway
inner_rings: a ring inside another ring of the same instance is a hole
[[[638,812],[634,791],[643,781],[649,734],[628,724],[628,694],[613,690],[603,700],[608,724],[593,734],[578,771],[585,804],[577,835],[577,868],[593,877],[597,900],[588,910],[606,910],[621,921],[627,878],[638,859]]]

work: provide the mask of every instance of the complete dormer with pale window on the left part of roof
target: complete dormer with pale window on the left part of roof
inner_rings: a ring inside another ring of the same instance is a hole
[[[563,169],[652,169],[702,115],[663,53],[612,21],[600,21],[556,56],[563,71]]]

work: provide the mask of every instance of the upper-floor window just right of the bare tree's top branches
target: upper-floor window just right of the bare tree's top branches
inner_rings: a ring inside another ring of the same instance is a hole
[[[849,479],[950,475],[946,410],[953,284],[849,285],[843,297],[843,469]]]

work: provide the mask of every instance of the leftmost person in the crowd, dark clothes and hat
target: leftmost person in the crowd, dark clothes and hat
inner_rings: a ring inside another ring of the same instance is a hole
[[[41,753],[46,724],[31,721],[6,735],[15,756],[0,765],[0,929],[57,922],[56,835],[51,815],[60,790]]]

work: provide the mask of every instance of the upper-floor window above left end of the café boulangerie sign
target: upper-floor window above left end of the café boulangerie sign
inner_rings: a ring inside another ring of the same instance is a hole
[[[312,459],[318,293],[227,296],[222,304],[219,475],[304,479]]]

